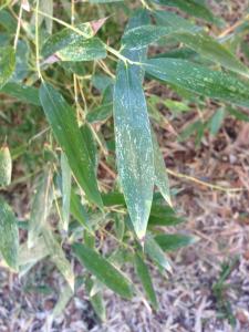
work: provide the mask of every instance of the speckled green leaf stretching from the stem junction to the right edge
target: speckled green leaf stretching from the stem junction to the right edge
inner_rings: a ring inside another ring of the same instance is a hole
[[[249,106],[249,84],[234,75],[179,59],[151,59],[145,69],[163,82],[211,98]]]

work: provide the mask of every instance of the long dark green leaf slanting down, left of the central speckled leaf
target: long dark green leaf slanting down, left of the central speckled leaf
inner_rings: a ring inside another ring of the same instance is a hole
[[[40,89],[40,101],[79,185],[87,198],[102,208],[94,166],[87,146],[82,139],[74,111],[63,96],[48,83],[43,83]]]

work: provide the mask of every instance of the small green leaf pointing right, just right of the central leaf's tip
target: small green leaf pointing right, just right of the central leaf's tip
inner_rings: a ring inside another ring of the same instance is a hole
[[[156,236],[155,240],[164,251],[175,251],[179,248],[196,243],[198,238],[178,234],[164,234]]]

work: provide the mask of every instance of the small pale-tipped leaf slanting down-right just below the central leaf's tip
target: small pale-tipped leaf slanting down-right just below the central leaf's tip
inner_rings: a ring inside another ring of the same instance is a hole
[[[172,267],[169,264],[168,258],[151,235],[146,236],[144,249],[154,262],[156,262],[166,271],[172,272]]]

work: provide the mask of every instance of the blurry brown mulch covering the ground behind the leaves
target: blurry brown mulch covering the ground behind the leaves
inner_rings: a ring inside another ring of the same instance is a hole
[[[239,20],[247,4],[230,1],[228,7],[228,1],[221,1],[218,7],[217,2],[211,1],[216,10],[221,9],[229,24]],[[209,106],[214,111],[215,106]],[[163,112],[167,114],[167,110]],[[170,122],[177,133],[195,118],[197,111],[190,114]],[[198,148],[194,138],[177,142],[169,127],[158,128],[158,135],[169,169],[204,183],[245,188],[239,193],[215,190],[191,179],[170,176],[172,188],[178,189],[174,206],[187,220],[177,230],[193,234],[199,241],[170,255],[173,273],[168,278],[152,269],[158,312],[151,311],[142,298],[127,302],[106,291],[107,321],[101,324],[81,288],[64,313],[51,323],[48,318],[63,280],[44,260],[21,279],[0,269],[0,332],[249,331],[249,125],[228,117],[219,134],[216,137],[206,134]],[[13,201],[21,216],[20,195],[15,194]],[[24,208],[24,214],[27,210]],[[167,231],[174,230],[167,228]],[[224,304],[229,303],[235,317],[236,325],[231,328],[222,317],[222,303],[214,286],[222,264],[234,259],[236,263],[225,281],[227,287],[221,298]],[[132,269],[129,273],[133,274]]]

